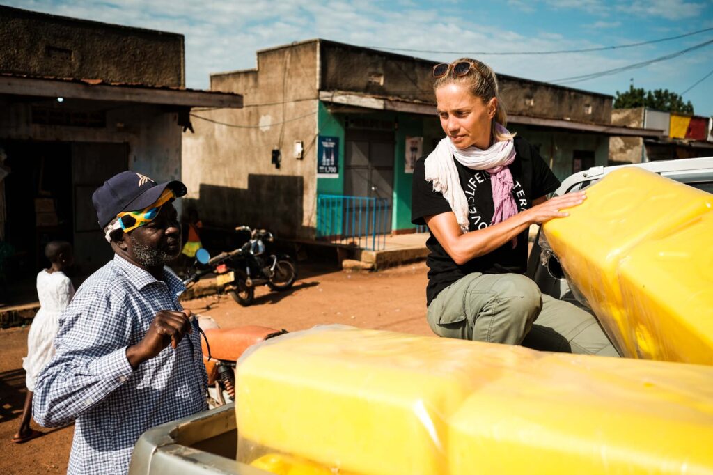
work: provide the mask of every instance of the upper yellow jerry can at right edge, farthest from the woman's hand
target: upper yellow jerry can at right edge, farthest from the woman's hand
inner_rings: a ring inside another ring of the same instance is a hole
[[[624,337],[638,357],[713,364],[712,240],[713,213],[706,213],[622,259]]]

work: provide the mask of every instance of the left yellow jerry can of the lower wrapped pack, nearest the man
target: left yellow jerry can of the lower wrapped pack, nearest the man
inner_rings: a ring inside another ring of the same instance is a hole
[[[530,354],[511,350],[350,327],[268,340],[236,368],[239,459],[267,446],[340,471],[446,473],[446,418],[503,358]]]

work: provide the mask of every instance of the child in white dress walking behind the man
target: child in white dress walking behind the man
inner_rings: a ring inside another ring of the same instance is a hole
[[[25,386],[27,395],[22,409],[20,429],[12,441],[22,444],[42,435],[42,432],[31,429],[32,396],[40,370],[50,361],[54,354],[53,339],[56,337],[59,322],[58,317],[74,296],[74,286],[63,270],[71,267],[74,262],[74,252],[69,242],[52,241],[45,246],[45,257],[50,262],[48,269],[43,269],[37,275],[37,296],[40,309],[37,311],[30,331],[27,334],[27,357],[23,358],[25,369]]]

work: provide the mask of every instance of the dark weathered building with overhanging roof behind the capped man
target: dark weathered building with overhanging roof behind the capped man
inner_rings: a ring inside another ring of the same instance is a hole
[[[91,203],[131,168],[180,178],[195,106],[235,108],[235,93],[184,88],[183,35],[0,6],[0,242],[11,280],[33,282],[54,239],[79,275],[111,257]]]

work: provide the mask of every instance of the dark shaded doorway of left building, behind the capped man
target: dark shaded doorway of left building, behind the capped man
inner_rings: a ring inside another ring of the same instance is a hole
[[[128,168],[124,143],[1,141],[10,173],[4,178],[6,220],[0,305],[37,300],[36,275],[50,262],[44,247],[64,240],[74,247],[68,270],[75,287],[113,252],[96,222],[91,194]]]

